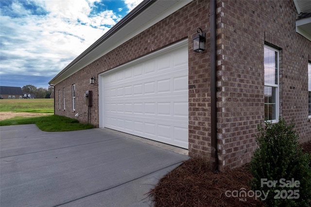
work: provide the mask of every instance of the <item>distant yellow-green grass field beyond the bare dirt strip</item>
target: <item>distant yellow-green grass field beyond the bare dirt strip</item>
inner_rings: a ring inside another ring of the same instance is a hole
[[[54,99],[0,99],[0,111],[54,113]]]

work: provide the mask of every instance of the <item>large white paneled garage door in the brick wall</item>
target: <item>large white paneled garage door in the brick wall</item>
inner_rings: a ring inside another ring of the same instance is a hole
[[[104,127],[188,149],[187,45],[103,74],[101,85]]]

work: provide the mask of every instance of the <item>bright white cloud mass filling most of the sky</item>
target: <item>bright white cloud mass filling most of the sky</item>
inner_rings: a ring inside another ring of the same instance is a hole
[[[37,71],[46,70],[46,65],[40,63],[50,60],[54,62],[53,68],[45,74],[55,75],[120,20],[112,11],[88,17],[91,8],[86,0],[37,2],[48,15],[29,15],[21,4],[12,3],[13,12],[22,16],[1,16],[1,30],[8,32],[1,40],[6,46],[5,55],[18,57],[13,62],[12,59],[1,61],[2,74],[24,71],[35,75]],[[5,32],[1,32],[1,38],[3,35]],[[32,62],[33,59],[37,62]],[[60,62],[62,59],[67,62]],[[25,70],[26,66],[30,68]]]

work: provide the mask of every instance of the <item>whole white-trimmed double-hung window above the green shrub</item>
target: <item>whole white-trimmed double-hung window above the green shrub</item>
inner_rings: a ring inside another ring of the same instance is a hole
[[[264,118],[277,122],[279,116],[279,50],[264,46]]]

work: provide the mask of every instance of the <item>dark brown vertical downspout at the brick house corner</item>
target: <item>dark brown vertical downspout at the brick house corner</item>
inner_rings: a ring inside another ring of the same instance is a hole
[[[210,122],[211,122],[211,154],[209,169],[218,170],[217,154],[217,91],[216,91],[216,0],[210,0]]]

